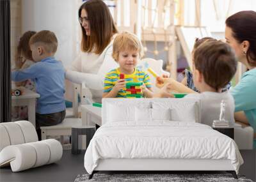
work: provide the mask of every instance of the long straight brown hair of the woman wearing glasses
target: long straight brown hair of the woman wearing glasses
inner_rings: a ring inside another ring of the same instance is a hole
[[[113,34],[117,33],[109,8],[101,0],[89,0],[79,8],[79,17],[81,17],[82,10],[86,10],[88,15],[90,36],[86,35],[86,31],[81,24],[83,32],[81,50],[100,54],[111,42]]]

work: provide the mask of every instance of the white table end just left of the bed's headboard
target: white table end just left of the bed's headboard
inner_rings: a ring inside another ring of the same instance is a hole
[[[101,126],[101,107],[92,105],[81,105],[81,118],[83,125],[99,125]]]

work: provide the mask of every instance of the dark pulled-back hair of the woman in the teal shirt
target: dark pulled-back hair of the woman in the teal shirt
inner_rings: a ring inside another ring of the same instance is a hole
[[[226,26],[232,29],[232,35],[237,42],[247,40],[250,43],[246,59],[250,66],[256,66],[256,12],[239,11],[228,17]]]

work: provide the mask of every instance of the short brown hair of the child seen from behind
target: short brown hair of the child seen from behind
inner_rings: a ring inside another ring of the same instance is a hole
[[[204,75],[205,83],[216,91],[226,86],[236,73],[236,56],[227,43],[205,41],[196,48],[194,59],[196,70]]]

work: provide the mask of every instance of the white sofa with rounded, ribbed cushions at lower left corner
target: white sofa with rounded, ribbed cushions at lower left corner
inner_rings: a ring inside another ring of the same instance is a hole
[[[10,165],[13,172],[56,162],[63,149],[58,140],[38,141],[29,121],[0,123],[0,167]]]

